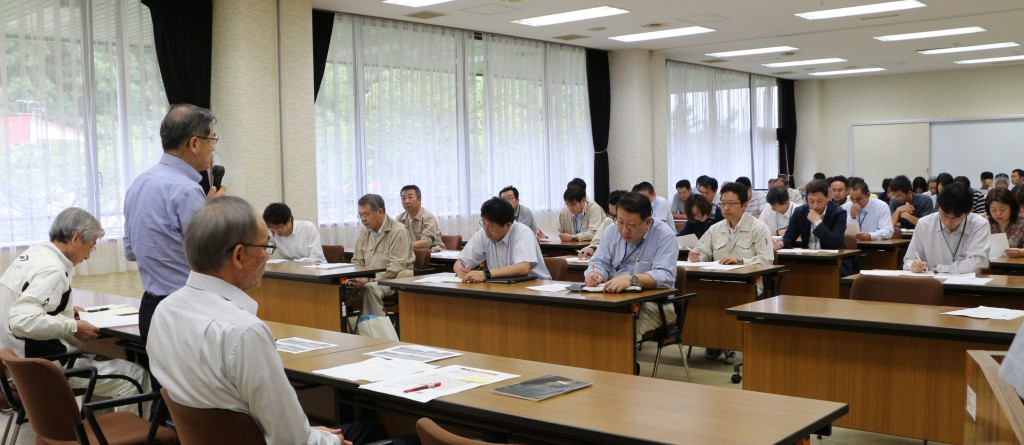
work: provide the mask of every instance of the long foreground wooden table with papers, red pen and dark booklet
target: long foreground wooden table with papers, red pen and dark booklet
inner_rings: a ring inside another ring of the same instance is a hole
[[[402,308],[402,317],[406,309]],[[404,323],[404,321],[403,321]],[[404,330],[404,329],[402,329]],[[465,352],[432,362],[494,369],[521,376],[427,403],[360,391],[355,383],[313,373],[366,359],[366,352],[402,345],[323,354],[285,363],[289,377],[336,388],[343,403],[420,416],[510,436],[512,442],[556,444],[794,444],[847,412],[843,403],[735,391],[659,379],[539,363]],[[542,402],[490,392],[545,374],[593,382],[593,386]],[[742,421],[742,428],[736,428]]]

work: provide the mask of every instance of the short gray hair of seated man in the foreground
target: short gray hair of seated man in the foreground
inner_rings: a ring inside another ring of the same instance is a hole
[[[221,196],[210,199],[193,215],[185,228],[185,257],[199,272],[219,270],[236,246],[259,236],[256,212],[245,199]]]

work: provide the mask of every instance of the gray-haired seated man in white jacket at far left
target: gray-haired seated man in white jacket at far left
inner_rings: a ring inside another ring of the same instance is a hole
[[[50,240],[25,251],[0,277],[0,333],[2,345],[18,357],[48,358],[76,353],[82,344],[95,339],[99,329],[78,319],[81,308],[72,301],[71,276],[76,265],[87,260],[103,236],[99,221],[88,212],[69,208],[50,226]],[[51,358],[55,359],[55,358]],[[120,374],[131,377],[150,391],[150,375],[141,366],[125,360],[96,360],[82,355],[75,366],[95,366],[99,373],[94,394],[121,398],[139,394],[130,382],[108,379]],[[88,380],[71,379],[72,388],[85,388]],[[118,410],[134,411],[136,405]],[[143,409],[145,409],[143,407]],[[143,413],[144,414],[144,413]]]

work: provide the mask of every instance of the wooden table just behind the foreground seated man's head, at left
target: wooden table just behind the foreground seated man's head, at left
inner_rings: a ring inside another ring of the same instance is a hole
[[[383,267],[310,269],[313,263],[267,264],[259,286],[247,292],[259,303],[260,319],[319,329],[347,331],[347,278],[373,276]]]

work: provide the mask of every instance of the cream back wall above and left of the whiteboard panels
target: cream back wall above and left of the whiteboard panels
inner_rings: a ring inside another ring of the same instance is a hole
[[[1024,65],[798,81],[796,95],[796,173],[804,181],[817,171],[849,173],[848,131],[853,123],[1022,114]],[[899,155],[894,153],[894,163],[900,162]]]

